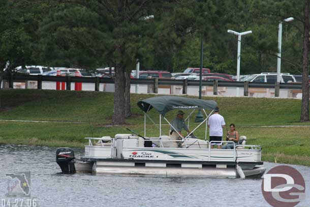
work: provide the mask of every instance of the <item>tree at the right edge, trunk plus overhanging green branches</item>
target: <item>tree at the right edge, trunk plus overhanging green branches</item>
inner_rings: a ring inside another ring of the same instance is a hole
[[[267,1],[254,1],[257,16],[265,19],[275,19],[282,21],[287,17],[294,17],[295,20],[291,25],[294,27],[290,33],[293,36],[290,38],[295,41],[287,41],[290,43],[288,49],[293,59],[289,58],[288,63],[297,65],[297,70],[302,68],[302,101],[301,101],[301,116],[300,122],[309,121],[309,0],[267,0]],[[295,31],[295,32],[294,32]],[[296,41],[299,40],[299,41]],[[294,42],[294,45],[292,45]],[[285,44],[284,44],[285,45]],[[299,45],[299,47],[297,47]],[[293,48],[293,49],[292,49]],[[299,48],[299,49],[296,49]],[[301,50],[302,48],[302,50]],[[285,49],[282,50],[284,53]],[[294,52],[293,52],[294,51]],[[290,56],[291,56],[290,55]],[[288,55],[286,55],[288,56]],[[302,64],[300,63],[302,62]],[[301,66],[301,67],[300,67]]]

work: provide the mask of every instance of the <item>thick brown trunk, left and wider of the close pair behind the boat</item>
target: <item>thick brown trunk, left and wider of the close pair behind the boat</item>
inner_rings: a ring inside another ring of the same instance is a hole
[[[125,124],[125,72],[121,65],[114,68],[114,114],[112,117],[113,125]]]

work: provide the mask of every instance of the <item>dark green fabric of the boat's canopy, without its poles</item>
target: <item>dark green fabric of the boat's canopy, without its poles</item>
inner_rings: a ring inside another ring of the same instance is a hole
[[[212,100],[193,99],[180,96],[157,96],[144,99],[139,101],[137,104],[139,108],[145,113],[154,108],[163,116],[165,116],[168,111],[173,109],[183,110],[201,108],[214,110],[218,105],[215,101]]]

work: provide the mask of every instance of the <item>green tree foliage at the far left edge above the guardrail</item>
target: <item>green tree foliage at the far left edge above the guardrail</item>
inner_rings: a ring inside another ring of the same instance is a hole
[[[25,12],[8,0],[2,0],[0,7],[1,86],[4,73],[12,74],[17,66],[23,66],[26,62],[30,62],[33,42],[36,37],[37,16],[34,15],[35,12],[31,8]]]

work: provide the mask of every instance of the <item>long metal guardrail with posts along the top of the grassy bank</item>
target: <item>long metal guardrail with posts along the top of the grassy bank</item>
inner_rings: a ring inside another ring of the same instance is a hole
[[[71,82],[95,83],[95,91],[99,91],[100,83],[114,83],[113,78],[103,77],[75,77],[75,76],[46,76],[46,75],[27,75],[27,74],[4,74],[4,80],[9,81],[9,87],[13,87],[13,82],[18,81],[38,81],[38,89],[42,89],[42,81],[66,82],[67,90],[71,90]],[[183,87],[182,94],[187,94],[188,86],[199,86],[199,80],[176,80],[176,79],[138,79],[132,78],[131,84],[148,85],[152,89],[150,92],[158,93],[159,85],[178,85]],[[218,94],[218,87],[241,87],[244,88],[244,96],[248,96],[249,88],[274,88],[275,96],[278,96],[280,89],[301,90],[301,83],[260,83],[249,81],[202,81],[203,86],[213,86],[213,94]]]

